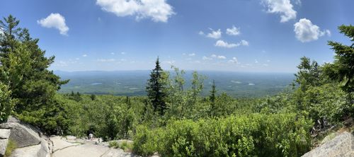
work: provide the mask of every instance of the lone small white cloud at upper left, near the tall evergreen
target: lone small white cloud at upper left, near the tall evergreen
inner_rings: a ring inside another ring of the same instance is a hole
[[[57,28],[61,35],[67,35],[69,31],[64,16],[59,13],[50,13],[47,18],[42,18],[37,23],[45,28]]]

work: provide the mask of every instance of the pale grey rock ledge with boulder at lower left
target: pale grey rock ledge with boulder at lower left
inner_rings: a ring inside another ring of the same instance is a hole
[[[9,117],[0,124],[0,157],[4,156],[8,141],[16,143],[11,157],[135,157],[122,149],[108,147],[108,142],[98,139],[76,139],[74,136],[44,136],[38,129]]]

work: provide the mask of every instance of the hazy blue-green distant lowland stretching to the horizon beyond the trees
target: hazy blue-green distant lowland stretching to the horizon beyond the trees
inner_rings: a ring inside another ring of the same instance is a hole
[[[190,87],[192,72],[186,71],[185,88]],[[150,71],[55,71],[55,74],[62,79],[70,79],[59,93],[74,91],[87,94],[146,95],[145,86]],[[198,71],[198,74],[206,76],[202,95],[209,94],[212,81],[215,80],[217,94],[227,93],[236,98],[275,95],[289,88],[295,79],[291,73]]]

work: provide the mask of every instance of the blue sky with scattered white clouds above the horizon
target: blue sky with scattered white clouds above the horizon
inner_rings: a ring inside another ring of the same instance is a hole
[[[164,69],[295,72],[299,58],[333,61],[348,43],[352,0],[1,0],[28,28],[53,70]]]

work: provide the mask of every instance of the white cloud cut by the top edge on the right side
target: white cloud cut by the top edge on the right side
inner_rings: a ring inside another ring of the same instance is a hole
[[[280,14],[280,22],[285,23],[296,18],[297,12],[292,8],[290,0],[263,0],[268,13]]]

